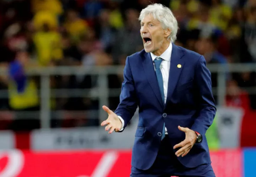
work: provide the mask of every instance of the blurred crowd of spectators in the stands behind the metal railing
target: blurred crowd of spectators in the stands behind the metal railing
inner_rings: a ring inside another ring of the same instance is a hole
[[[176,45],[204,55],[207,63],[256,62],[256,0],[1,0],[0,66],[8,76],[0,76],[0,89],[7,89],[9,98],[0,99],[0,109],[40,109],[40,78],[28,77],[27,68],[124,65],[128,55],[143,49],[138,17],[154,2],[170,7],[177,18]],[[91,75],[50,79],[53,89],[90,89],[97,83]],[[108,75],[108,86],[120,88],[122,80],[122,75]],[[256,86],[254,72],[229,73],[227,68],[226,81],[226,104],[256,109],[255,95],[243,89]],[[216,74],[212,82],[216,87]],[[115,109],[119,97],[109,102]],[[100,108],[97,100],[86,97],[51,100],[52,110]],[[0,129],[40,127],[36,118],[27,122],[17,117]],[[95,125],[97,119],[51,122],[52,127]]]

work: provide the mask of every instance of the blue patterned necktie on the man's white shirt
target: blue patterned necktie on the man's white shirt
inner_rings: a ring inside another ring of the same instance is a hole
[[[162,58],[160,58],[160,57],[156,57],[154,59],[156,78],[158,80],[158,85],[159,85],[162,101],[163,101],[163,103],[165,105],[165,100],[164,100],[164,83],[163,83],[163,79],[162,79],[162,72],[161,72],[161,69],[160,69],[161,62],[162,62]],[[164,139],[164,137],[165,137],[165,123],[164,123],[164,127],[163,127],[163,130],[162,130],[162,137],[161,137],[161,139]]]

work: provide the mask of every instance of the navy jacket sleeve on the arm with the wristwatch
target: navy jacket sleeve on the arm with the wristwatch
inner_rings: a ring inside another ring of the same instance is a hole
[[[199,95],[199,114],[191,130],[205,135],[209,126],[212,125],[216,114],[216,107],[212,94],[211,74],[206,67],[206,61],[203,56],[198,59],[196,64],[195,80]]]

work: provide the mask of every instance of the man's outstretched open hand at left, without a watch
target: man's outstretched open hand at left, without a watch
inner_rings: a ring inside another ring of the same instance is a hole
[[[108,118],[107,120],[104,120],[103,122],[101,122],[101,126],[107,125],[105,127],[105,130],[106,131],[110,130],[108,133],[112,133],[113,131],[116,131],[116,132],[120,131],[122,129],[122,122],[118,118],[118,116],[108,107],[103,106],[102,108],[108,113]]]

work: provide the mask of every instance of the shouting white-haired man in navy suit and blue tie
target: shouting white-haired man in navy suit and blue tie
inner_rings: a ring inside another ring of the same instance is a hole
[[[205,133],[216,108],[205,59],[173,44],[169,8],[149,5],[139,19],[144,50],[127,57],[120,103],[115,112],[103,106],[101,125],[121,132],[139,107],[130,177],[214,177]]]

